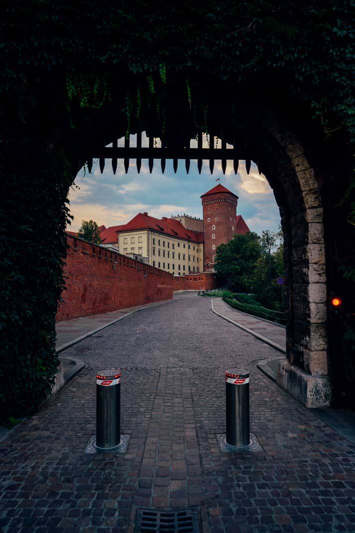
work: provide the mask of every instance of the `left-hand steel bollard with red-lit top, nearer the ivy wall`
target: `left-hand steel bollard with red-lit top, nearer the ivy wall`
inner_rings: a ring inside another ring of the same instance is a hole
[[[96,448],[110,450],[121,442],[121,372],[117,368],[96,374]]]

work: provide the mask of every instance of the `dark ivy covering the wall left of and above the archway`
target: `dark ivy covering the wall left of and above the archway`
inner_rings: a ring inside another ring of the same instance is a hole
[[[123,134],[147,116],[154,117],[155,134],[174,131],[172,94],[185,102],[186,122],[204,127],[213,87],[226,86],[280,115],[302,109],[321,142],[335,139],[350,154],[354,6],[339,0],[7,3],[0,21],[3,419],[34,410],[53,381],[65,198],[88,139],[106,141],[112,116]],[[340,201],[352,224],[350,156],[341,166]]]

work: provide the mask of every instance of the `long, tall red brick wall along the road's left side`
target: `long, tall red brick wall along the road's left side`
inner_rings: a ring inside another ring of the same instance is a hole
[[[172,298],[173,276],[168,272],[69,235],[67,239],[66,290],[57,321]]]

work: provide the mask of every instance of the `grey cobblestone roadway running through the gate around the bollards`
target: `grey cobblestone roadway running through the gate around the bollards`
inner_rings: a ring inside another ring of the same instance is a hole
[[[0,443],[0,528],[131,530],[133,510],[199,507],[203,531],[355,531],[353,446],[255,368],[279,352],[179,295],[70,348],[86,368]],[[82,451],[95,371],[122,368],[124,456]],[[224,370],[251,373],[258,453],[222,453]],[[130,525],[129,525],[130,524]]]

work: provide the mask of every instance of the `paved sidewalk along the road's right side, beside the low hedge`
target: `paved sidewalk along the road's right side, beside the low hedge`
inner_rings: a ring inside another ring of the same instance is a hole
[[[230,308],[222,298],[211,298],[211,307],[219,316],[265,342],[270,341],[271,346],[286,353],[286,329],[282,326],[236,311]]]

